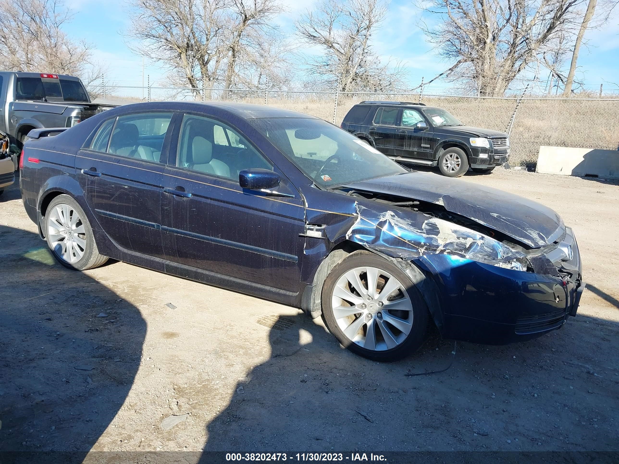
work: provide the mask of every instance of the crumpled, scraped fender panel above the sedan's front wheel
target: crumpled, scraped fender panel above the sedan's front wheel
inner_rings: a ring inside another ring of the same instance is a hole
[[[526,254],[500,241],[449,221],[415,213],[376,212],[357,203],[357,220],[346,238],[391,257],[413,259],[426,254],[462,258],[526,269]]]

